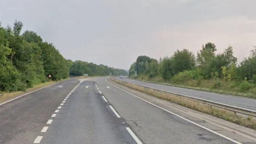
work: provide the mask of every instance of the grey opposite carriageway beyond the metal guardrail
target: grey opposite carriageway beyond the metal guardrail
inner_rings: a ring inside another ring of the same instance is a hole
[[[231,95],[224,95],[224,94],[217,94],[217,93],[205,92],[205,91],[194,90],[194,89],[173,87],[173,86],[167,86],[164,84],[156,84],[156,83],[138,81],[138,80],[127,79],[127,78],[120,79],[119,77],[115,77],[115,79],[125,81],[125,82],[140,84],[142,86],[166,90],[166,91],[173,92],[173,93],[194,96],[196,98],[221,102],[223,104],[229,104],[229,105],[233,105],[233,106],[256,110],[256,100],[255,99],[242,98],[242,97],[238,97],[238,96],[231,96]]]

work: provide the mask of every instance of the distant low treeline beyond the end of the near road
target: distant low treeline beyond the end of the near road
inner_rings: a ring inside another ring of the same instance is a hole
[[[123,69],[115,69],[107,67],[106,65],[88,63],[83,61],[75,61],[70,67],[70,75],[82,76],[88,74],[89,76],[106,76],[106,75],[128,75]]]

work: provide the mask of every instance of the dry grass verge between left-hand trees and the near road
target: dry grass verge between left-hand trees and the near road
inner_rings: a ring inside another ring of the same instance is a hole
[[[69,79],[63,79],[61,81],[66,81],[66,80],[69,80]],[[48,86],[50,84],[57,83],[57,82],[60,82],[60,81],[48,81],[48,82],[38,83],[35,86],[33,86],[32,88],[27,88],[24,92],[23,91],[3,92],[3,93],[1,93],[2,96],[0,97],[0,104],[3,102],[6,102],[8,100],[14,99],[20,95],[32,92],[33,90],[36,90],[36,89],[39,89],[39,88],[42,88],[42,87],[45,87],[45,86]]]

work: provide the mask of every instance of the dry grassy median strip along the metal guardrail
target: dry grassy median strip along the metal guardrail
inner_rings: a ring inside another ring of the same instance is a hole
[[[175,104],[179,104],[179,105],[194,109],[196,111],[210,114],[210,115],[213,115],[214,117],[218,117],[218,118],[230,121],[232,123],[239,124],[239,125],[248,127],[250,129],[256,130],[256,120],[252,117],[245,118],[242,116],[235,115],[234,112],[231,112],[225,109],[215,108],[207,104],[202,104],[201,102],[184,99],[179,96],[175,96],[167,93],[160,93],[155,90],[144,88],[132,83],[126,83],[126,82],[115,80],[115,79],[111,79],[111,80],[123,86],[127,86],[132,89],[139,90],[141,92],[150,94],[152,96],[156,96],[157,98],[168,100],[168,101],[174,102]]]

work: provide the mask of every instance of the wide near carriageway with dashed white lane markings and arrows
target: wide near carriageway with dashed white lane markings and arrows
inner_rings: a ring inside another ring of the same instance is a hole
[[[0,144],[240,144],[198,123],[105,77],[70,79],[1,105]]]

